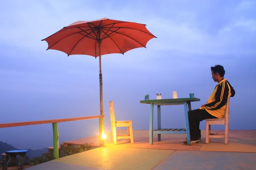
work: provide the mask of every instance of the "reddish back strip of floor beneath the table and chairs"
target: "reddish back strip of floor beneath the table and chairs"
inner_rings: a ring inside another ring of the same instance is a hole
[[[126,130],[118,130],[118,134],[127,133]],[[223,133],[223,130],[212,130],[212,133]],[[149,144],[148,130],[134,130],[134,144],[130,144],[127,139],[118,140],[117,147],[132,147],[145,149],[166,149],[166,150],[201,150],[201,151],[219,151],[219,152],[252,152],[256,153],[256,130],[230,130],[229,143],[224,144],[224,139],[211,139],[209,144],[205,141],[205,130],[201,130],[202,139],[200,144],[187,146],[183,144],[186,138],[185,134],[162,134],[161,141],[157,141],[157,134],[154,134],[153,144]],[[105,146],[114,146],[112,134],[107,133],[108,138]],[[99,136],[67,141],[64,143],[84,144],[93,143],[93,146],[99,147]]]

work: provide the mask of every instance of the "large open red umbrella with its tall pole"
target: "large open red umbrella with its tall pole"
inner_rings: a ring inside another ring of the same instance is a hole
[[[78,21],[43,39],[48,49],[63,51],[68,56],[84,54],[99,57],[100,115],[103,115],[101,55],[122,53],[145,47],[149,40],[157,38],[145,24],[102,18],[94,21]],[[103,119],[100,119],[103,130]],[[100,134],[102,134],[100,130]]]

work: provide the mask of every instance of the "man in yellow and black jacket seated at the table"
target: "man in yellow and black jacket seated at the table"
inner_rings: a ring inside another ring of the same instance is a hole
[[[235,90],[224,79],[225,70],[221,65],[211,67],[212,79],[218,84],[215,86],[207,103],[199,109],[189,111],[189,129],[191,144],[200,143],[201,130],[199,129],[200,122],[205,119],[218,119],[225,117],[227,107],[227,99],[235,96]],[[184,143],[187,144],[187,141]]]

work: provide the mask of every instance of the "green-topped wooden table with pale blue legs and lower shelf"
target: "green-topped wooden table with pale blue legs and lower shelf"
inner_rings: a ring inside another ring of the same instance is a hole
[[[149,115],[149,144],[153,144],[153,134],[158,134],[158,141],[161,141],[161,134],[186,134],[187,143],[190,144],[190,133],[189,133],[189,116],[188,110],[191,111],[191,102],[198,102],[200,99],[197,98],[180,98],[180,99],[156,99],[156,100],[141,100],[140,103],[150,104],[150,115]],[[157,105],[157,129],[153,130],[153,108]],[[161,128],[161,112],[160,106],[163,105],[184,105],[185,111],[185,129],[162,129]]]

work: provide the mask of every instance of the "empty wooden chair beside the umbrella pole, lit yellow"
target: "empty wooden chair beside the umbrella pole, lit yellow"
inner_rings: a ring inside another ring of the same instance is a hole
[[[133,121],[132,120],[116,121],[113,100],[111,100],[111,102],[109,102],[109,106],[110,106],[111,129],[112,129],[114,144],[117,143],[117,139],[130,139],[130,142],[133,144],[134,143],[133,130],[132,130],[132,122]],[[117,135],[116,127],[127,127],[128,134]]]

